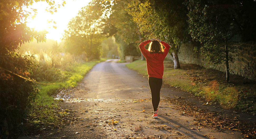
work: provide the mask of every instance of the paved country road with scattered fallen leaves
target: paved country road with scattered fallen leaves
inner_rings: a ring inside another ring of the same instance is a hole
[[[151,118],[147,78],[116,62],[107,60],[95,65],[70,90],[71,98],[65,103],[76,113],[75,121],[38,138],[242,138],[241,132],[195,126],[196,118],[183,116],[175,104],[167,101],[185,92],[169,87],[161,89],[159,118]]]

